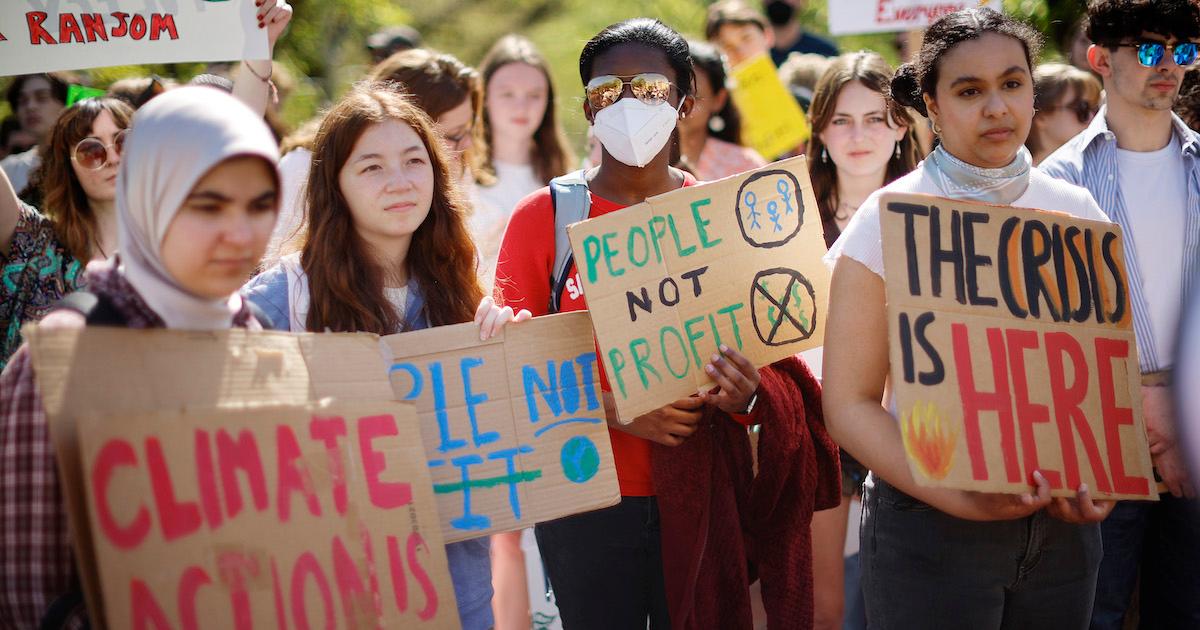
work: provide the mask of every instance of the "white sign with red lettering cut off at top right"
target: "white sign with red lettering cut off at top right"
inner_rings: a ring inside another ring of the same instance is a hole
[[[829,2],[829,34],[924,29],[942,16],[984,6],[1003,10],[1000,0],[839,0]]]

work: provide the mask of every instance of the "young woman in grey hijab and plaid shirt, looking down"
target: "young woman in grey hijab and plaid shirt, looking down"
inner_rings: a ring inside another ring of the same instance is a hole
[[[260,328],[238,288],[266,247],[278,203],[278,152],[262,116],[221,91],[181,88],[133,120],[116,181],[120,253],[89,266],[88,290],[127,328]],[[0,190],[0,209],[16,203]],[[60,310],[43,325],[86,319]],[[66,625],[46,619],[78,576],[26,347],[0,376],[0,626]],[[65,612],[85,616],[82,604]]]

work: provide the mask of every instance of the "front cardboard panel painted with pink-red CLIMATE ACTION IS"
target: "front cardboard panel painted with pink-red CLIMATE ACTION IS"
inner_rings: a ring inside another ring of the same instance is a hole
[[[79,434],[109,628],[458,626],[413,406],[88,415]]]

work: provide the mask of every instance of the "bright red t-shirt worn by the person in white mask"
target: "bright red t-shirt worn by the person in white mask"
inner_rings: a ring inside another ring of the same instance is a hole
[[[688,175],[684,186],[696,180]],[[625,206],[592,194],[588,218],[616,212]],[[554,206],[550,188],[541,188],[517,204],[509,220],[500,242],[500,256],[496,263],[496,289],[503,304],[514,308],[528,308],[534,316],[546,314],[550,308],[550,276],[554,265]],[[578,269],[572,264],[566,288],[563,292],[562,311],[586,311]],[[599,353],[598,353],[599,358]],[[600,359],[602,360],[602,359]],[[599,364],[598,364],[599,365]],[[600,368],[600,385],[612,391],[605,371]],[[650,443],[624,431],[608,430],[612,438],[612,455],[617,463],[617,481],[625,497],[653,497],[654,480],[650,474]]]

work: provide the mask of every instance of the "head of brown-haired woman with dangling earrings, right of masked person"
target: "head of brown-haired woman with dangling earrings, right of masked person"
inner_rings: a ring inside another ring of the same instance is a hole
[[[913,120],[888,112],[892,68],[876,53],[847,53],[817,82],[809,106],[809,176],[826,246],[833,245],[868,196],[917,166]]]

